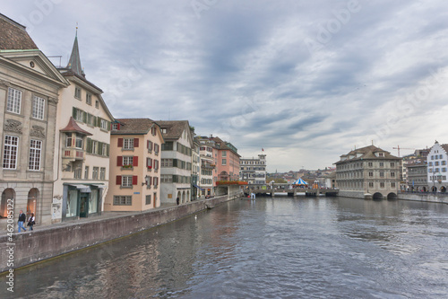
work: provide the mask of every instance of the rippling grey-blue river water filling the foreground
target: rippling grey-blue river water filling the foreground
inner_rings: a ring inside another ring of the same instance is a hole
[[[447,298],[448,206],[235,200],[0,278],[0,298]]]

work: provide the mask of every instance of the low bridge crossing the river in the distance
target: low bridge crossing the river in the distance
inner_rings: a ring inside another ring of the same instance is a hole
[[[324,195],[326,197],[336,197],[339,194],[339,189],[321,189],[317,188],[303,188],[303,187],[292,187],[289,184],[273,184],[271,186],[256,186],[249,185],[246,189],[244,189],[245,196],[250,196],[252,193],[263,196],[271,196],[275,195],[287,195],[289,197],[296,196],[308,196],[308,197],[318,197],[320,195]]]

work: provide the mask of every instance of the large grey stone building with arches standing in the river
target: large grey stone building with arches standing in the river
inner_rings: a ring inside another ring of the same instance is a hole
[[[341,196],[396,198],[401,182],[401,158],[369,145],[342,154],[336,164]]]

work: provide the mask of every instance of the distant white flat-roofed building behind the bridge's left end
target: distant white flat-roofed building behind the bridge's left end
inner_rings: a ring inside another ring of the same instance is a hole
[[[239,159],[239,180],[244,180],[249,185],[266,185],[266,155]]]

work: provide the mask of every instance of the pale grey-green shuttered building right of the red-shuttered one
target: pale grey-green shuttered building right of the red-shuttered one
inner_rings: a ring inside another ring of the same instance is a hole
[[[160,202],[189,202],[192,197],[192,130],[187,120],[160,120],[165,144],[161,150]]]

